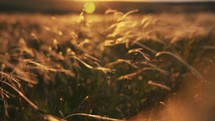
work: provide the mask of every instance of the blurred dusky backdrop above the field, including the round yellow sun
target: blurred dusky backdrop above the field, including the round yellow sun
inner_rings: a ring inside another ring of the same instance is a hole
[[[179,8],[188,11],[215,11],[215,0],[0,0],[0,11],[61,11],[79,13],[83,10],[83,6],[89,10],[87,11],[88,13],[104,12],[110,8],[121,11],[138,9],[150,12],[169,11],[169,9],[178,11]]]

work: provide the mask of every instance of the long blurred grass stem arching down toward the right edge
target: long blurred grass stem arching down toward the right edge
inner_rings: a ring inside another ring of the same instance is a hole
[[[161,55],[171,55],[174,58],[176,58],[178,61],[180,61],[182,64],[185,65],[185,67],[187,67],[187,69],[189,69],[193,75],[195,75],[199,80],[206,82],[206,80],[204,79],[204,77],[195,69],[193,68],[190,64],[188,64],[185,60],[183,60],[179,55],[174,54],[172,52],[168,52],[168,51],[162,51],[162,52],[158,52],[155,56],[161,56]]]

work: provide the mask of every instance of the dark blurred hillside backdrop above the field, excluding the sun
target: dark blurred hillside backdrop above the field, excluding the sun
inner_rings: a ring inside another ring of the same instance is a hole
[[[0,1],[1,12],[80,13],[85,2],[62,0],[10,0]],[[215,2],[95,2],[95,13],[107,9],[130,11],[138,9],[144,13],[162,12],[215,12]]]

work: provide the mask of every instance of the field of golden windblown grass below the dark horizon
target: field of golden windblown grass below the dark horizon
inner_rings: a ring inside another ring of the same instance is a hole
[[[214,13],[135,12],[1,13],[0,120],[213,121]]]

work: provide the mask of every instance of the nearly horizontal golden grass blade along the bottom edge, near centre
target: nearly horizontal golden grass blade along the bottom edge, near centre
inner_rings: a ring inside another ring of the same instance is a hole
[[[127,121],[127,120],[123,120],[123,119],[116,119],[116,118],[110,118],[110,117],[106,117],[106,116],[86,114],[86,113],[74,113],[74,114],[70,114],[70,115],[66,116],[65,119],[68,119],[68,118],[73,117],[73,116],[92,117],[92,118],[95,118],[95,119],[98,119],[98,120],[106,120],[106,121]]]

